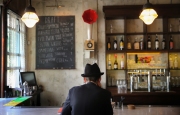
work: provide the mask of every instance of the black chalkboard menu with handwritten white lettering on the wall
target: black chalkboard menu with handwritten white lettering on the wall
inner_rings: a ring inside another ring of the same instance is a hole
[[[36,69],[75,68],[75,16],[39,16]]]

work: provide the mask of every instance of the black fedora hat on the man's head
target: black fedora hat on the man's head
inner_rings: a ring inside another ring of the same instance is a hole
[[[103,74],[104,72],[101,72],[99,69],[99,66],[96,63],[94,63],[93,65],[86,64],[86,67],[84,69],[84,74],[81,74],[81,76],[82,77],[98,77]]]

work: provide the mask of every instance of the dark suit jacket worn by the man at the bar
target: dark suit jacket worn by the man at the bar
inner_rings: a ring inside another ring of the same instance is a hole
[[[61,115],[113,115],[111,93],[94,83],[73,87]]]

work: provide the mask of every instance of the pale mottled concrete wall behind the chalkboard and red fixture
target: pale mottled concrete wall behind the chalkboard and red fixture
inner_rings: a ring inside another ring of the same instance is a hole
[[[32,0],[39,16],[75,16],[75,63],[73,70],[36,70],[36,27],[27,30],[28,45],[27,66],[29,71],[35,71],[38,84],[43,85],[44,91],[41,94],[42,105],[60,106],[65,101],[68,90],[83,83],[81,74],[84,65],[89,62],[98,62],[102,72],[105,72],[105,20],[102,7],[104,5],[143,5],[146,0],[58,0],[63,8],[49,8],[46,5],[54,5],[54,0]],[[153,4],[170,4],[171,0],[150,0]],[[180,0],[172,0],[172,3],[180,3]],[[92,38],[96,42],[95,56],[93,59],[84,58],[84,40],[87,39],[88,24],[82,19],[82,14],[87,9],[98,12],[98,21],[93,24]],[[102,76],[102,85],[105,88],[105,75]]]

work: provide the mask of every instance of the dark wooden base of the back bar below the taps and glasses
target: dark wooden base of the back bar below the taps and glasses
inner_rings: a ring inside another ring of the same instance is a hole
[[[126,93],[118,93],[116,87],[107,88],[111,92],[114,102],[121,100],[125,97],[124,104],[135,105],[180,105],[180,92],[179,91],[127,91]],[[179,114],[180,115],[180,114]]]

